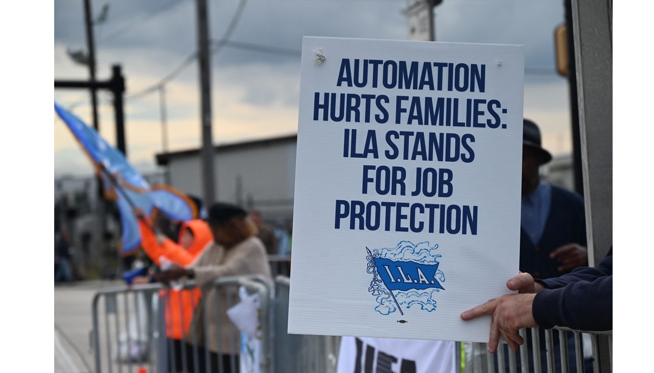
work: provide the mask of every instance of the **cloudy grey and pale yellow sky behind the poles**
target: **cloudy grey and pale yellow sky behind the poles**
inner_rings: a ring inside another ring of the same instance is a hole
[[[169,151],[201,145],[192,0],[92,0],[97,77],[120,64],[126,77],[126,141],[129,161],[156,169],[162,151],[160,90],[165,92]],[[54,1],[54,78],[88,79],[67,50],[86,50],[80,0]],[[303,35],[407,39],[403,0],[209,1],[214,143],[233,143],[296,133]],[[568,83],[555,71],[555,27],[564,21],[563,0],[444,0],[435,9],[436,40],[525,45],[525,116],[540,124],[543,145],[569,152]],[[149,91],[148,91],[149,90]],[[90,95],[55,90],[55,100],[91,123]],[[99,93],[101,135],[115,141],[111,95]],[[53,114],[54,115],[54,114]],[[88,175],[88,160],[54,115],[55,175]]]

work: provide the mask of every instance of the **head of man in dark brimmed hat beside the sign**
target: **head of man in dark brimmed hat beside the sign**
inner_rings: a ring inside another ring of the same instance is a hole
[[[538,169],[550,160],[552,155],[541,147],[538,126],[531,120],[523,119],[523,194],[529,194],[538,187]]]

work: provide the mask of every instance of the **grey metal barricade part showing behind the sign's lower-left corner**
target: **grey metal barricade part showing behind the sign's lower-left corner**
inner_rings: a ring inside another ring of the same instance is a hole
[[[335,373],[339,336],[288,334],[288,293],[290,278],[275,278],[275,355],[276,373]]]

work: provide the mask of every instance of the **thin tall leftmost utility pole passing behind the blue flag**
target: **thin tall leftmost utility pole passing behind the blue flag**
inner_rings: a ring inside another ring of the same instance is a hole
[[[89,80],[95,81],[95,39],[93,35],[93,20],[91,16],[91,2],[90,0],[84,0],[84,20],[86,23],[86,48],[88,49],[88,72]],[[93,111],[93,128],[98,133],[99,123],[97,118],[97,90],[95,87],[91,87],[91,105]],[[103,253],[104,249],[104,236],[105,236],[105,226],[107,222],[105,219],[105,196],[102,188],[102,179],[97,177],[97,204],[95,205],[95,212],[97,213],[97,218],[95,219],[95,234],[94,236],[94,246],[97,249],[100,249],[100,254]]]

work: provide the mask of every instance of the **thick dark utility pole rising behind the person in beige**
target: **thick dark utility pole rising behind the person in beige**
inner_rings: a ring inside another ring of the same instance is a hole
[[[209,10],[207,0],[196,0],[198,10],[198,67],[200,79],[200,116],[202,123],[202,191],[205,206],[215,200],[213,137],[211,134],[211,60],[209,54]]]

